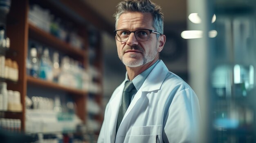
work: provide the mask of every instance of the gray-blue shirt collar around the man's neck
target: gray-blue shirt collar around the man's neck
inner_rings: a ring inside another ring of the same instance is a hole
[[[148,69],[146,69],[145,71],[143,71],[141,74],[137,75],[133,80],[132,83],[135,86],[135,88],[137,89],[137,91],[139,90],[139,88],[143,85],[144,81],[146,80],[146,78],[148,77],[148,75],[150,74],[150,72],[154,69],[155,65],[157,65],[157,63],[160,60],[157,60],[153,65],[151,65],[150,67],[148,67]],[[128,78],[128,74],[126,72],[126,78],[125,81],[129,80]]]

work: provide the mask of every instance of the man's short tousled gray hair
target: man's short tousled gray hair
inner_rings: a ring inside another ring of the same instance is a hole
[[[117,4],[117,12],[114,14],[116,19],[115,27],[121,14],[126,12],[151,13],[153,16],[153,27],[161,34],[164,32],[164,15],[160,6],[150,0],[124,0]]]

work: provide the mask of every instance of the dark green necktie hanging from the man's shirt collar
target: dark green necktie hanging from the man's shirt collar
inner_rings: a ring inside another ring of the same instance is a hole
[[[135,94],[135,92],[137,92],[137,90],[134,87],[132,81],[126,81],[126,83],[124,85],[121,106],[119,108],[119,113],[118,113],[118,117],[117,117],[117,130],[120,126],[121,121],[124,118],[124,114],[125,114],[126,110],[128,109],[128,107],[130,105],[131,96],[133,94]],[[116,130],[116,133],[117,133],[117,130]]]

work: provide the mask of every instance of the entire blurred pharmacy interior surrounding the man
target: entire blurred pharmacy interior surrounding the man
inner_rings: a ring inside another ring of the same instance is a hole
[[[152,0],[168,69],[200,102],[200,143],[256,143],[254,0]],[[6,143],[94,143],[125,78],[120,0],[0,0],[0,136]],[[13,138],[16,136],[16,138]]]

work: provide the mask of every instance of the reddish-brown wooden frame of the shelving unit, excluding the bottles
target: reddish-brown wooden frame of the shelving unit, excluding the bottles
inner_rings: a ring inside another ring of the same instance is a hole
[[[15,51],[16,54],[8,54],[6,58],[11,58],[12,60],[16,60],[19,66],[19,79],[18,82],[13,83],[11,81],[7,81],[7,89],[13,91],[19,91],[21,95],[21,104],[22,104],[22,112],[4,112],[9,118],[18,118],[21,120],[21,130],[25,131],[25,97],[27,96],[27,89],[31,85],[37,85],[38,87],[50,88],[60,90],[62,92],[66,92],[70,97],[73,98],[74,103],[76,104],[76,114],[81,118],[83,123],[86,123],[87,111],[86,104],[88,98],[88,91],[83,89],[75,89],[71,87],[66,87],[63,85],[59,85],[54,82],[42,80],[40,78],[34,78],[31,76],[27,76],[26,74],[26,58],[29,50],[28,41],[36,40],[37,42],[42,43],[43,45],[47,45],[51,48],[54,48],[56,51],[60,51],[66,56],[70,56],[75,60],[79,60],[83,66],[88,68],[89,66],[89,56],[88,56],[88,24],[96,25],[96,28],[103,29],[109,31],[113,29],[113,27],[109,27],[108,24],[102,25],[102,23],[106,23],[101,17],[99,17],[93,9],[88,8],[84,2],[81,0],[38,0],[31,2],[38,2],[38,4],[42,4],[43,7],[48,7],[49,9],[53,9],[53,12],[58,13],[58,15],[62,15],[62,18],[67,18],[67,20],[73,20],[74,24],[79,28],[79,36],[83,38],[84,48],[79,49],[74,47],[67,42],[64,42],[52,34],[43,31],[42,29],[36,27],[35,25],[29,23],[28,13],[29,13],[29,0],[13,0],[11,2],[11,9],[7,16],[7,37],[10,38],[11,48],[10,51]],[[86,7],[86,8],[85,8]],[[56,9],[55,9],[56,8]],[[65,11],[72,11],[71,13]],[[75,14],[74,14],[75,13]],[[95,13],[95,15],[93,14]],[[94,15],[92,17],[92,15]],[[74,16],[74,17],[73,17]],[[77,18],[79,17],[79,18]],[[79,23],[80,22],[80,23]],[[101,39],[99,39],[101,40]],[[98,43],[101,43],[100,41]],[[102,58],[101,58],[101,47],[97,45],[97,57],[100,57],[95,61],[94,66],[97,66],[98,69],[102,71]],[[102,80],[98,81],[102,86]],[[100,94],[97,95],[97,103],[101,103]],[[101,120],[103,118],[101,117]]]

